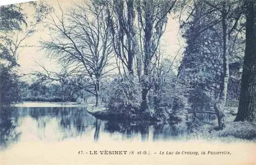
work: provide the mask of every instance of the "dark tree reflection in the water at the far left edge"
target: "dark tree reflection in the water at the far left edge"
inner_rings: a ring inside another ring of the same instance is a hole
[[[17,108],[0,109],[0,150],[19,140],[20,132],[16,130],[17,121]]]

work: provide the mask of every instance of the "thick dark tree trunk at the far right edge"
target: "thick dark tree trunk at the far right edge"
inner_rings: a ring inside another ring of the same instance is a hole
[[[246,46],[238,114],[234,121],[255,121],[256,114],[256,1],[247,1]]]

